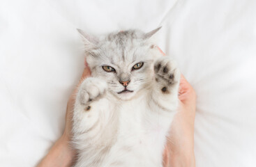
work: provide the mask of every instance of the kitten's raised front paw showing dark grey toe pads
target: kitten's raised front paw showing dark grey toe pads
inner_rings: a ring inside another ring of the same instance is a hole
[[[177,63],[170,57],[163,56],[154,64],[156,82],[163,86],[162,91],[167,92],[167,88],[179,83],[180,72]]]

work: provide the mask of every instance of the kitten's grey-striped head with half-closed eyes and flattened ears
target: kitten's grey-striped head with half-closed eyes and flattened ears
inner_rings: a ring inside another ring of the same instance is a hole
[[[103,38],[78,30],[92,76],[107,81],[110,92],[119,99],[130,100],[153,79],[153,61],[160,53],[149,38],[159,29],[119,31]]]

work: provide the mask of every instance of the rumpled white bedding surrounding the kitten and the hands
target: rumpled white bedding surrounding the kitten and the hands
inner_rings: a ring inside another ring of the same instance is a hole
[[[76,28],[158,32],[197,92],[198,167],[256,166],[256,1],[0,1],[0,166],[61,136],[83,57]]]

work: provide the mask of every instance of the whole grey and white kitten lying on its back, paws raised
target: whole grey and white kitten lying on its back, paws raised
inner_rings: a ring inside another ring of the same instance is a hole
[[[149,39],[158,29],[98,39],[78,30],[91,77],[82,82],[75,101],[76,167],[162,166],[180,72]]]

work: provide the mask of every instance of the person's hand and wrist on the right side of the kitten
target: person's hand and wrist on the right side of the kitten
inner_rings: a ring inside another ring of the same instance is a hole
[[[181,74],[179,108],[170,127],[163,156],[164,167],[195,166],[194,122],[196,94]]]

